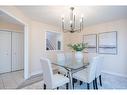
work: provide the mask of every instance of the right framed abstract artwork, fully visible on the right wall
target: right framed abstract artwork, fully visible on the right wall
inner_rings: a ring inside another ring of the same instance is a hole
[[[98,53],[117,54],[117,31],[98,34]]]

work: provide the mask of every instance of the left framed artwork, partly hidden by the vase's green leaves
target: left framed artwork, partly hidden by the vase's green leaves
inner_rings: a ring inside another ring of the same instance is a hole
[[[97,52],[97,35],[96,34],[83,35],[83,43],[88,44],[88,48],[84,52],[90,52],[90,53]]]

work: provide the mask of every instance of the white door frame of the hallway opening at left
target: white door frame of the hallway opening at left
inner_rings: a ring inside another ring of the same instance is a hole
[[[21,19],[17,18],[16,16],[12,15],[11,13],[7,12],[4,9],[0,9],[0,11],[16,19],[18,22],[24,25],[24,31],[23,31],[24,32],[24,79],[26,80],[30,77],[28,24],[22,21]]]

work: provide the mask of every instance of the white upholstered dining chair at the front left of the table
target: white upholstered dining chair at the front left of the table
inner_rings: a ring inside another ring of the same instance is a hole
[[[43,69],[44,89],[55,89],[69,83],[69,78],[61,74],[53,74],[51,62],[47,58],[40,59]]]

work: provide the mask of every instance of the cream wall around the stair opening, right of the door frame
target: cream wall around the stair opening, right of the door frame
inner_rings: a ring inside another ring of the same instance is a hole
[[[48,57],[52,62],[56,61],[56,53],[60,51],[46,51],[45,50],[45,32],[56,31],[60,29],[51,25],[40,22],[31,22],[31,75],[41,73],[40,57]]]

